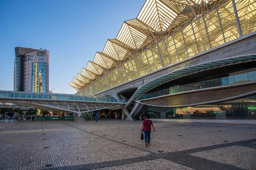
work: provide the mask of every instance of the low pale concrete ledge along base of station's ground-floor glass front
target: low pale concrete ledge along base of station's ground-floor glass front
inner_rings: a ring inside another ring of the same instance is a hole
[[[183,123],[227,123],[227,124],[253,124],[256,125],[256,119],[151,119],[157,122],[183,122]]]

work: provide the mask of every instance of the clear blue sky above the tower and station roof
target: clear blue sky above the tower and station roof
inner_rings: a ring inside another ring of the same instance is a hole
[[[69,85],[145,0],[0,0],[0,90],[13,91],[15,47],[50,51],[49,89]]]

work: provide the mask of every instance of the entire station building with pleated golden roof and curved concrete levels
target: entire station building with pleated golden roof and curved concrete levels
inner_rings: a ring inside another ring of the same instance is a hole
[[[129,119],[256,119],[256,1],[147,0],[70,86]]]

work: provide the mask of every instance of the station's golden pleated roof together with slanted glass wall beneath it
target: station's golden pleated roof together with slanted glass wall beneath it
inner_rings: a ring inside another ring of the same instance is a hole
[[[147,0],[70,86],[99,94],[255,31],[255,0]]]

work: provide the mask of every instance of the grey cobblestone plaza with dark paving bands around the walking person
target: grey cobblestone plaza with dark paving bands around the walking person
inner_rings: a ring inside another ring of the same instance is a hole
[[[142,121],[0,122],[0,170],[256,170],[256,125],[153,124],[146,147]]]

